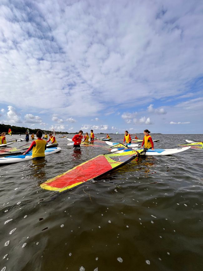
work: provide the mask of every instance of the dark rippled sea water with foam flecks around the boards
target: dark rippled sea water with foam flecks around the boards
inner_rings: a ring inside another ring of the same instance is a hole
[[[160,139],[155,148],[203,140],[151,136]],[[203,148],[141,157],[58,193],[40,184],[110,148],[103,142],[74,151],[56,138],[61,152],[0,166],[0,271],[203,270]]]

